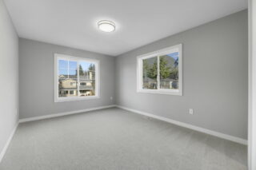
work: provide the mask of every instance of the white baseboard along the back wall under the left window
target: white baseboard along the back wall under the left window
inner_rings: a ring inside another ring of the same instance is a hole
[[[101,106],[101,107],[97,107],[97,108],[74,110],[74,111],[65,112],[65,113],[55,113],[55,114],[49,114],[49,115],[41,116],[41,117],[29,117],[29,118],[20,119],[18,122],[23,123],[23,122],[27,122],[27,121],[38,121],[38,120],[42,120],[42,119],[49,119],[52,117],[62,117],[62,116],[70,115],[70,114],[85,113],[85,112],[89,112],[89,111],[93,111],[93,110],[107,109],[107,108],[113,108],[113,107],[116,107],[116,105],[106,105],[106,106]]]

